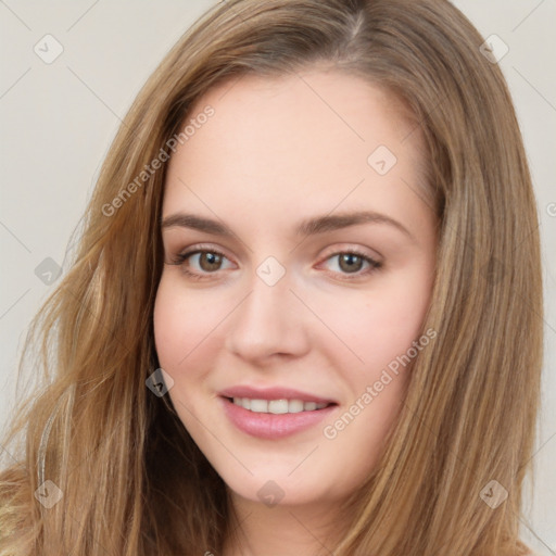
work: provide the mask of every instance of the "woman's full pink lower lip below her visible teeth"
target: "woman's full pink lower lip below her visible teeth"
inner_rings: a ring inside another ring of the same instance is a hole
[[[236,405],[227,397],[220,397],[229,420],[241,431],[260,439],[281,439],[309,429],[329,416],[337,405],[329,405],[314,412],[299,413],[254,413]]]

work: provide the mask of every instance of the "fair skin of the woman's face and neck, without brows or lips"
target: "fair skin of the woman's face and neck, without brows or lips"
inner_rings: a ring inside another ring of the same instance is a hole
[[[191,114],[207,104],[214,116],[169,161],[162,216],[193,213],[225,223],[235,236],[163,229],[167,264],[154,311],[160,364],[174,380],[168,395],[181,421],[242,520],[240,541],[228,540],[225,556],[326,553],[346,526],[334,508],[372,472],[410,365],[336,438],[324,429],[421,336],[430,303],[437,237],[419,193],[421,138],[392,94],[316,67],[224,84]],[[397,159],[386,175],[367,162],[378,146]],[[408,233],[377,222],[294,233],[304,218],[362,210]],[[195,248],[225,258],[220,266],[199,254],[170,264]],[[381,266],[342,266],[338,253],[353,249]],[[275,286],[256,274],[268,256],[286,269]],[[220,408],[218,393],[237,384],[295,388],[339,405],[308,430],[262,440],[238,430]],[[268,480],[283,492],[273,507],[257,495]]]

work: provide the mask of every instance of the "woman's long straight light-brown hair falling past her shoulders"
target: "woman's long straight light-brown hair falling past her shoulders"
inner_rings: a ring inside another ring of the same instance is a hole
[[[510,97],[482,42],[444,0],[229,0],[184,35],[127,114],[75,262],[29,331],[25,352],[38,345],[47,384],[3,442],[18,463],[0,475],[1,555],[217,554],[231,534],[226,485],[146,388],[157,367],[166,165],[146,166],[172,155],[169,140],[211,87],[315,63],[410,110],[440,233],[424,325],[438,336],[415,359],[379,465],[345,503],[353,519],[334,554],[525,548],[542,359],[538,216]],[[481,497],[489,484],[508,493],[495,509]],[[62,497],[47,508],[36,490],[54,486]]]

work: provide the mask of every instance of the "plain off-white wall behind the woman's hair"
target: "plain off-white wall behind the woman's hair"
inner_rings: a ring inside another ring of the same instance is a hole
[[[0,1],[0,426],[15,405],[26,327],[58,283],[58,267],[67,270],[71,235],[121,119],[164,54],[215,1]],[[484,37],[497,36],[491,39],[496,55],[507,49],[498,63],[515,101],[538,199],[546,351],[535,485],[532,498],[527,496],[522,538],[539,555],[554,555],[556,2],[454,3]]]

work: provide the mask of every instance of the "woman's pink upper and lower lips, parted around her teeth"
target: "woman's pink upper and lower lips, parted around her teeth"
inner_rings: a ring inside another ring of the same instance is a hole
[[[268,414],[250,412],[236,405],[230,397],[250,397],[252,400],[301,400],[318,404],[330,403],[328,407],[313,412],[292,414]],[[287,388],[257,390],[251,387],[235,387],[220,392],[218,399],[229,420],[241,431],[252,437],[275,440],[314,427],[333,412],[338,405],[332,400]]]

